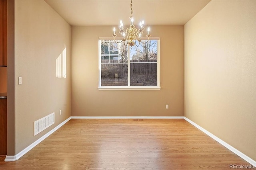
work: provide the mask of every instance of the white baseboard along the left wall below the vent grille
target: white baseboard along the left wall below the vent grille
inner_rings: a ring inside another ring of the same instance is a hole
[[[54,129],[52,129],[51,131],[49,131],[48,133],[46,133],[44,136],[40,137],[38,140],[36,140],[34,143],[32,143],[31,145],[29,145],[28,147],[26,147],[25,149],[23,149],[21,152],[19,152],[18,154],[14,155],[14,156],[6,156],[6,158],[4,159],[5,162],[10,162],[10,161],[15,161],[18,160],[21,156],[23,156],[24,154],[26,154],[28,151],[30,151],[31,149],[33,149],[36,145],[38,145],[40,142],[42,142],[44,139],[46,139],[48,136],[50,136],[52,133],[54,133],[57,129],[59,129],[60,127],[62,127],[62,125],[64,125],[66,122],[68,122],[71,119],[71,117],[69,117],[68,119],[64,120],[62,123],[60,123],[58,126],[54,127]]]

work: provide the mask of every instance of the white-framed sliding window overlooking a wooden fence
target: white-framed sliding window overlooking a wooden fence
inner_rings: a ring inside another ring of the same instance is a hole
[[[159,39],[150,39],[139,47],[100,39],[99,89],[160,90],[159,49]]]

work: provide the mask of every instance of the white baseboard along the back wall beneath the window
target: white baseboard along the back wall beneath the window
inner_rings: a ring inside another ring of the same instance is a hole
[[[71,116],[71,119],[184,119],[184,116]]]

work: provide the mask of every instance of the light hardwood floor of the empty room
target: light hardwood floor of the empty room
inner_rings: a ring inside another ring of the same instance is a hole
[[[71,119],[9,169],[228,170],[250,165],[184,119]]]

